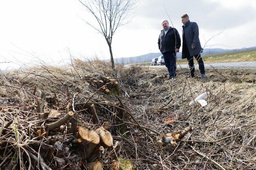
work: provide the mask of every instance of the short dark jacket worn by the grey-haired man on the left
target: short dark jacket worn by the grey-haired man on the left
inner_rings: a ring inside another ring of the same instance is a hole
[[[164,30],[161,31],[158,38],[158,48],[160,49],[160,52],[162,54],[164,52],[176,53],[176,49],[180,49],[180,46],[181,46],[180,34],[178,33],[176,28],[170,27],[166,35],[164,33]]]

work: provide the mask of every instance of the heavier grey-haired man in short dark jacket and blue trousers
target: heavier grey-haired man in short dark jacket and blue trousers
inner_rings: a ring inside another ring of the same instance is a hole
[[[169,79],[176,76],[176,52],[180,51],[181,40],[177,29],[169,27],[169,22],[162,22],[163,30],[158,38],[158,48],[163,54],[165,67],[169,72]]]

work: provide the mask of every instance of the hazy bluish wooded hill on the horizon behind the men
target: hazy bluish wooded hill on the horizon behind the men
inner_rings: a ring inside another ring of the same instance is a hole
[[[224,53],[224,52],[234,52],[234,51],[244,51],[244,50],[251,50],[256,49],[256,46],[249,47],[249,48],[241,48],[241,49],[204,49],[201,55],[206,54],[218,54],[218,53]],[[177,53],[177,58],[181,58],[181,52]],[[158,58],[161,55],[160,52],[156,53],[148,53],[141,56],[135,56],[135,57],[125,57],[125,58],[114,58],[115,63],[123,63],[123,64],[130,64],[130,63],[143,63],[143,62],[150,62],[152,58]],[[106,60],[110,61],[110,60]]]

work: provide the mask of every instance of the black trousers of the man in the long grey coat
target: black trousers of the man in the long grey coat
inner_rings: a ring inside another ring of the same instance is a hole
[[[182,46],[182,51],[185,52],[185,55],[187,57],[191,77],[195,76],[194,57],[196,58],[196,60],[198,62],[200,73],[205,74],[204,61],[202,60],[201,54],[197,54],[195,56],[190,56],[187,45]]]

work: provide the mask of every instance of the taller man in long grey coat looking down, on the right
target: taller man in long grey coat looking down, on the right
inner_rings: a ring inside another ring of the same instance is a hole
[[[181,21],[182,24],[184,24],[182,26],[182,59],[187,58],[190,68],[190,75],[187,77],[190,78],[195,76],[195,66],[193,60],[195,57],[199,65],[201,77],[205,78],[204,61],[200,55],[203,49],[199,40],[198,25],[196,22],[190,22],[187,14],[181,16]]]

